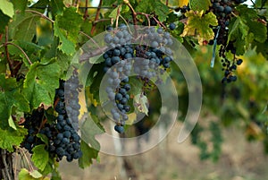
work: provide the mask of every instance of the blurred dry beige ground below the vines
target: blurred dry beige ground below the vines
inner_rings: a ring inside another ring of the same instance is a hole
[[[124,158],[132,171],[123,175],[122,158],[99,154],[100,162],[81,170],[76,163],[63,162],[63,180],[267,180],[268,157],[260,142],[248,142],[239,128],[223,131],[221,158],[216,162],[199,159],[190,143],[177,142],[180,124],[154,149]],[[132,175],[131,175],[132,174]],[[131,177],[132,176],[132,177]],[[136,176],[136,177],[135,177]]]

